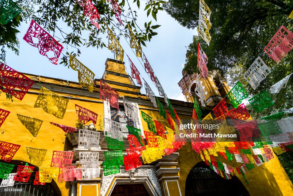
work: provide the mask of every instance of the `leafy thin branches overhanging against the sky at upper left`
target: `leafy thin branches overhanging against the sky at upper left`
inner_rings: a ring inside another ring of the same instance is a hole
[[[137,12],[132,11],[128,0],[117,1],[120,9],[122,10],[121,26],[117,19],[115,19],[112,5],[106,0],[91,0],[93,5],[98,10],[101,18],[98,23],[100,30],[98,30],[83,14],[83,8],[77,4],[75,0],[58,0],[58,1],[43,1],[43,0],[18,0],[16,4],[23,10],[23,12],[16,16],[11,22],[6,25],[0,24],[0,47],[2,47],[0,60],[5,61],[4,48],[10,48],[19,53],[19,41],[17,38],[17,27],[23,20],[32,18],[47,32],[54,36],[57,41],[62,43],[64,48],[71,46],[76,48],[75,51],[63,51],[64,58],[60,63],[67,65],[67,56],[72,53],[74,56],[79,55],[81,47],[107,47],[107,41],[101,38],[101,34],[107,33],[106,25],[115,28],[115,36],[119,40],[119,36],[128,37],[127,23],[132,26],[137,40],[142,45],[146,46],[145,42],[150,41],[157,33],[153,31],[159,25],[151,25],[152,21],[145,23],[144,28],[140,28],[137,21]],[[139,0],[134,0],[138,8],[141,7]],[[163,10],[161,4],[163,1],[150,0],[146,2],[144,7],[147,15],[151,13],[152,17],[156,20],[156,14],[159,10]],[[33,12],[35,10],[35,12]],[[122,35],[123,34],[123,35]],[[77,52],[77,54],[75,53]]]

